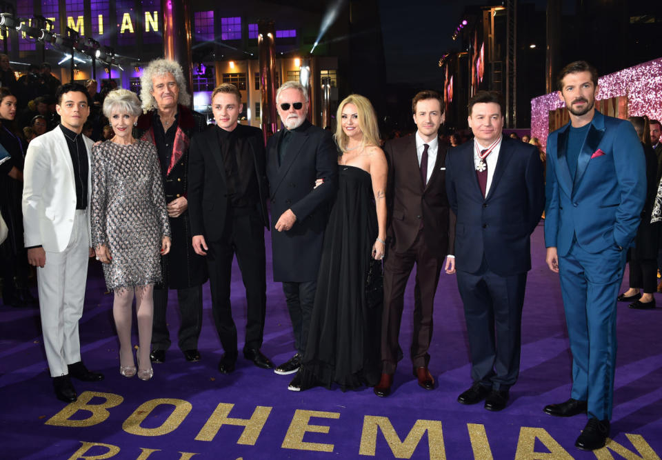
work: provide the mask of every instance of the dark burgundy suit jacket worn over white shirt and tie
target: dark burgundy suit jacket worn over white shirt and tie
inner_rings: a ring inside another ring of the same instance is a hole
[[[386,234],[391,250],[404,252],[411,248],[423,219],[423,238],[428,250],[439,259],[452,254],[455,214],[446,197],[447,151],[448,147],[439,139],[434,170],[428,184],[423,186],[415,134],[385,143],[384,153],[388,160]],[[430,167],[432,165],[428,165]]]

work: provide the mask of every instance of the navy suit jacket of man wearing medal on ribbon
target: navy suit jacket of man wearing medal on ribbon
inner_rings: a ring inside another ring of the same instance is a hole
[[[488,196],[474,167],[474,141],[446,155],[446,191],[457,216],[455,266],[475,273],[483,258],[502,277],[531,269],[530,235],[545,205],[543,163],[538,149],[504,137]]]

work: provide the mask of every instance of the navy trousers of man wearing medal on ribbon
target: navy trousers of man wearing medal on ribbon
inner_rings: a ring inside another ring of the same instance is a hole
[[[485,261],[476,273],[457,271],[471,356],[471,378],[508,390],[519,375],[526,272],[502,277]]]

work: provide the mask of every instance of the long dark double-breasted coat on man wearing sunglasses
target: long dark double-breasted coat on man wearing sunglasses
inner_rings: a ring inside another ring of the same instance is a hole
[[[338,187],[338,152],[330,132],[304,121],[279,166],[283,131],[267,143],[271,219],[275,225],[291,209],[297,221],[286,232],[272,232],[274,281],[316,281],[330,202]],[[316,179],[324,183],[314,188]]]

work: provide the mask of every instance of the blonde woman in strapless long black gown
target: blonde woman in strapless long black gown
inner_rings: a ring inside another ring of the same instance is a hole
[[[374,386],[381,375],[381,302],[368,301],[370,260],[384,257],[388,165],[370,101],[351,94],[339,105],[335,141],[339,186],[324,234],[308,343],[292,391],[334,383]],[[379,267],[381,274],[381,267]]]

